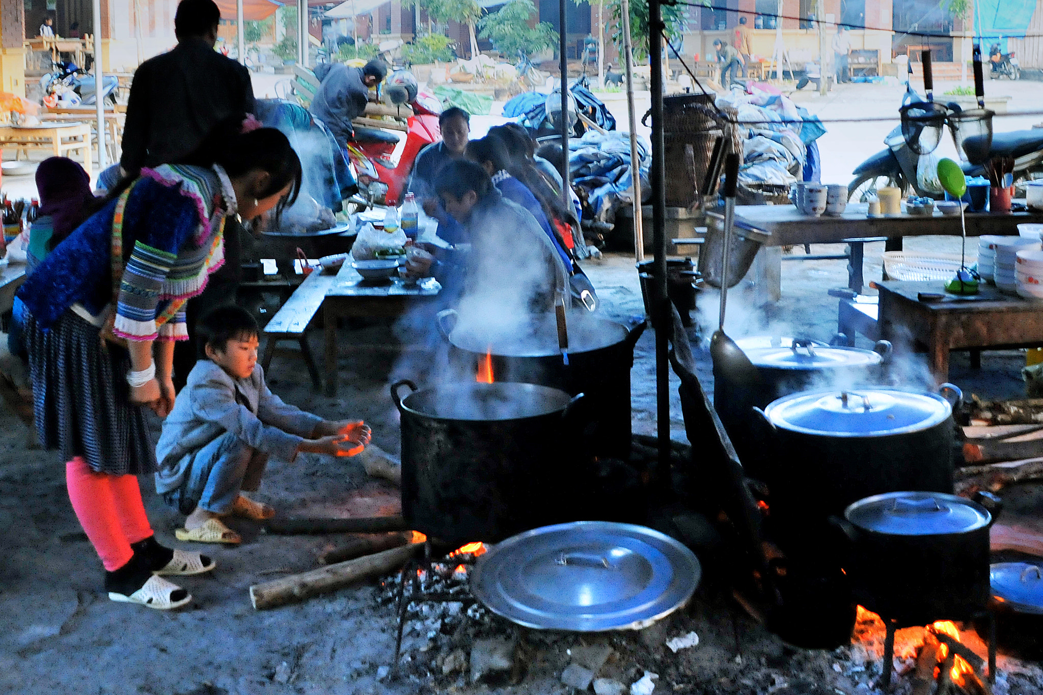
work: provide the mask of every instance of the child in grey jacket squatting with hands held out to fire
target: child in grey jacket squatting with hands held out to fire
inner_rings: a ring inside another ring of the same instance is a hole
[[[323,420],[272,394],[257,364],[260,329],[246,309],[216,308],[197,330],[199,362],[156,445],[155,490],[188,515],[177,540],[237,544],[242,539],[221,517],[261,521],[275,514],[241,494],[260,487],[269,456],[351,456],[369,444],[370,430],[361,420]]]

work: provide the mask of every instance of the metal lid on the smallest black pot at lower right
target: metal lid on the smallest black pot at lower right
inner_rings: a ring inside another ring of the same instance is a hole
[[[977,502],[936,492],[890,492],[844,510],[855,526],[890,536],[966,533],[989,525],[992,515]]]

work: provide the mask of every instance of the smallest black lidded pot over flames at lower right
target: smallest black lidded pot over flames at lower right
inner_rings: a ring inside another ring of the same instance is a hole
[[[993,510],[999,500],[985,493]],[[855,600],[899,627],[969,620],[989,602],[989,528],[976,501],[936,492],[858,500],[834,519],[851,542],[846,571]]]

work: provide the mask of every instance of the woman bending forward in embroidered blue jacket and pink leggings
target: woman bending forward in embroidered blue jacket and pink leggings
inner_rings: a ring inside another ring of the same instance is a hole
[[[136,476],[155,470],[144,406],[160,417],[173,406],[173,341],[188,337],[186,300],[223,263],[225,218],[292,203],[300,187],[286,136],[242,133],[239,121],[191,165],[121,181],[19,291],[40,441],[68,462],[69,499],[113,600],[177,607],[191,596],[160,575],[214,567],[155,541]]]

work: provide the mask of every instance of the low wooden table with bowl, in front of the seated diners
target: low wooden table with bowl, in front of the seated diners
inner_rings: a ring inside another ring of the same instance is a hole
[[[304,286],[301,286],[304,287]],[[337,319],[340,318],[394,318],[402,316],[416,301],[431,301],[441,292],[433,277],[425,278],[413,287],[399,282],[371,282],[364,280],[350,263],[345,263],[337,273],[337,281],[326,291],[322,302],[322,321],[325,331],[325,392],[337,395]]]

